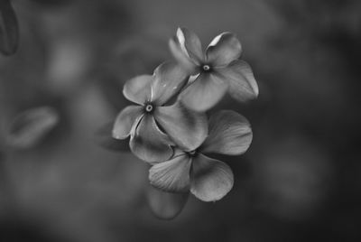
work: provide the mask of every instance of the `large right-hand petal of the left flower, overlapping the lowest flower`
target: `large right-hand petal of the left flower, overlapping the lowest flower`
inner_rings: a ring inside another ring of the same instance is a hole
[[[184,150],[195,150],[208,135],[207,116],[184,107],[180,102],[158,107],[154,116],[174,143]]]

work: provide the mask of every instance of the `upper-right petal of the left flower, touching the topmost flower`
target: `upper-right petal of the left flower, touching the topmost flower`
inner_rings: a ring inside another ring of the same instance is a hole
[[[164,62],[154,70],[152,100],[163,105],[176,95],[188,81],[187,72],[176,62]]]

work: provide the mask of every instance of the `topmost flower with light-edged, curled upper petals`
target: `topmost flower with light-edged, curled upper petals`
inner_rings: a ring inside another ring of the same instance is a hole
[[[189,88],[180,99],[187,107],[203,111],[218,103],[228,91],[238,101],[258,96],[258,86],[250,66],[238,60],[241,43],[233,33],[221,33],[202,51],[199,37],[185,28],[178,28],[170,40],[171,52],[192,75]]]

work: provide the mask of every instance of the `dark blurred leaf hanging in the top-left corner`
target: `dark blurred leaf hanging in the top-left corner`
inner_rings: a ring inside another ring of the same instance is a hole
[[[0,1],[0,51],[12,55],[19,44],[19,25],[10,0]]]

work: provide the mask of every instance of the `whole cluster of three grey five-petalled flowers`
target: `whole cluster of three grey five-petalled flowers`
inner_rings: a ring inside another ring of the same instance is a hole
[[[176,61],[125,83],[123,94],[134,105],[116,117],[113,137],[130,136],[133,154],[152,166],[153,187],[220,200],[232,189],[233,173],[208,155],[245,153],[252,130],[235,111],[209,117],[207,111],[226,93],[237,101],[256,98],[257,83],[239,60],[241,44],[233,33],[221,33],[203,51],[195,33],[179,28],[170,48]]]

